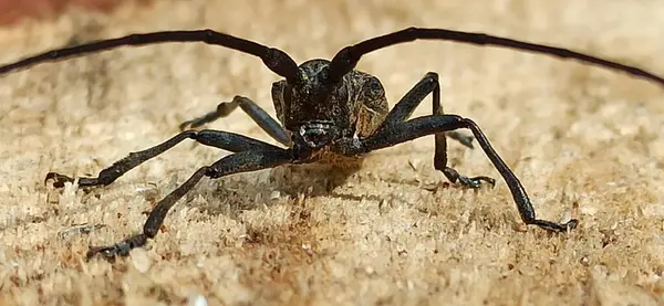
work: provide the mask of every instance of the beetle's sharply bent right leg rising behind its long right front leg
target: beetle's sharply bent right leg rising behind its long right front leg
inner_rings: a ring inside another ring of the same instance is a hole
[[[429,93],[433,95],[433,114],[443,115],[444,112],[443,105],[440,104],[440,83],[438,82],[438,74],[435,72],[428,72],[408,93],[404,95],[404,97],[402,97],[398,103],[396,103],[378,129],[401,124],[406,120]],[[487,182],[491,187],[496,184],[496,180],[490,177],[466,177],[460,175],[454,168],[447,167],[447,137],[456,139],[470,148],[473,148],[470,145],[473,137],[465,136],[456,130],[437,133],[434,137],[434,168],[442,171],[449,181],[453,183],[458,181],[467,188],[479,188],[481,182]]]

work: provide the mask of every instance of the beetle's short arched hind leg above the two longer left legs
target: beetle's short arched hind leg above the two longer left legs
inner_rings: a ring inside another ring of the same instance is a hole
[[[235,96],[231,102],[222,102],[217,106],[217,109],[209,112],[200,117],[187,120],[180,124],[180,129],[186,127],[196,128],[205,124],[211,123],[216,119],[230,115],[237,107],[240,107],[260,128],[262,128],[268,135],[274,138],[280,144],[289,147],[290,137],[286,129],[279,124],[272,116],[270,116],[264,109],[262,109],[256,102],[248,97]]]

